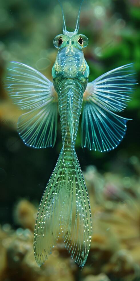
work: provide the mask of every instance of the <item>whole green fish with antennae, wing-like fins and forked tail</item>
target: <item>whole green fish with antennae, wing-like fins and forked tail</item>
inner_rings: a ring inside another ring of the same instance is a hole
[[[117,67],[89,79],[89,66],[83,49],[88,38],[79,34],[81,5],[73,32],[66,28],[63,7],[63,34],[53,44],[58,53],[52,68],[52,82],[39,71],[12,61],[5,78],[5,89],[13,103],[24,110],[17,130],[25,145],[35,149],[54,147],[58,112],[62,149],[43,193],[34,232],[34,255],[41,266],[62,235],[72,259],[83,268],[92,235],[88,191],[75,152],[81,121],[81,146],[107,152],[115,149],[125,136],[127,121],[119,116],[135,91],[133,63]]]

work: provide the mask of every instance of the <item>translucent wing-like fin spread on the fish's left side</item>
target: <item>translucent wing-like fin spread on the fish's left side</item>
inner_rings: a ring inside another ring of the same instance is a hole
[[[11,62],[5,89],[13,103],[27,113],[18,120],[24,143],[34,148],[53,146],[57,134],[57,93],[53,83],[37,70]]]

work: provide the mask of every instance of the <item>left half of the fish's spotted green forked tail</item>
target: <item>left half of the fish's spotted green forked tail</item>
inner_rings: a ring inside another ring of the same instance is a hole
[[[41,266],[48,259],[60,233],[60,212],[62,209],[60,199],[63,196],[62,184],[59,180],[61,170],[61,156],[59,156],[42,196],[35,224],[34,254],[38,266]]]

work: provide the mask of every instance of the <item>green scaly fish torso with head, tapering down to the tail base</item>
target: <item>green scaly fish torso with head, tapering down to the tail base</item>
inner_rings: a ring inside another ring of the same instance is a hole
[[[77,46],[79,36],[59,36],[63,46],[52,69],[53,85],[58,94],[61,132],[65,147],[75,145],[83,93],[87,87],[89,67]],[[65,46],[66,45],[66,46]],[[81,47],[81,46],[80,46]]]

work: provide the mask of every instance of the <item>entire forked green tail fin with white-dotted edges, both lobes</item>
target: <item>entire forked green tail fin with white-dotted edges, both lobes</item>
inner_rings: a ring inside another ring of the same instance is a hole
[[[91,210],[75,150],[72,155],[72,161],[66,161],[61,150],[41,199],[34,234],[34,253],[39,266],[48,259],[61,233],[75,262],[83,267],[87,260]]]

